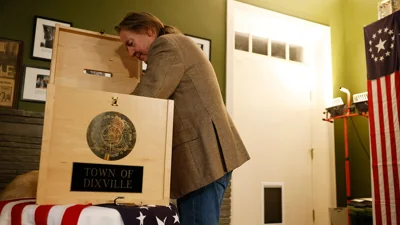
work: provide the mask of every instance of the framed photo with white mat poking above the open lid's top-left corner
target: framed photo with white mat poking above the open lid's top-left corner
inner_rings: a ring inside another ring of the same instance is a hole
[[[56,31],[57,23],[67,27],[72,26],[70,22],[35,16],[32,58],[51,60],[54,32]]]

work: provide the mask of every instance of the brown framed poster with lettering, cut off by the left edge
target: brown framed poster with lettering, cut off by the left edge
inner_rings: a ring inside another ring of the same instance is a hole
[[[0,38],[0,107],[17,108],[23,45]]]

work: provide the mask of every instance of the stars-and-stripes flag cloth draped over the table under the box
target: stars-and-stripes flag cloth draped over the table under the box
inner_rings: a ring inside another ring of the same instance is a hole
[[[143,205],[36,205],[36,199],[0,201],[0,225],[179,225],[178,209]]]

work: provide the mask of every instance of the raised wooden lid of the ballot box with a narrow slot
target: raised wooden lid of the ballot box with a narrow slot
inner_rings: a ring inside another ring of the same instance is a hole
[[[119,37],[73,27],[57,25],[52,57],[51,82],[64,86],[130,94],[142,73]]]

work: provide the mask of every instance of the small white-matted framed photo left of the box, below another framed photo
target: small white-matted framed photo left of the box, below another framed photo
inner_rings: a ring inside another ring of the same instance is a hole
[[[21,85],[21,101],[46,102],[50,70],[42,67],[24,66]]]

